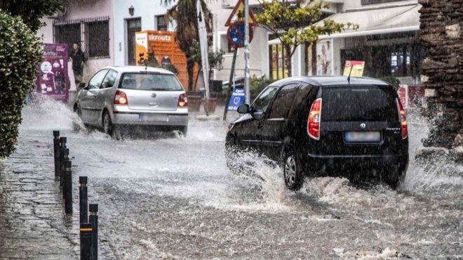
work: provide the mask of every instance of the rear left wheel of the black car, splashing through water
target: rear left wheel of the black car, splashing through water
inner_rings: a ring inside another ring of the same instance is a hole
[[[283,158],[283,177],[285,178],[286,188],[299,190],[304,181],[300,160],[297,159],[293,151],[286,152]]]

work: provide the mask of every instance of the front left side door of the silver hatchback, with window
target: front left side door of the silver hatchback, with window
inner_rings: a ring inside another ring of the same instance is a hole
[[[100,70],[97,72],[92,79],[90,79],[86,88],[82,90],[80,103],[83,122],[96,124],[96,119],[98,119],[98,91],[107,72],[108,70]]]

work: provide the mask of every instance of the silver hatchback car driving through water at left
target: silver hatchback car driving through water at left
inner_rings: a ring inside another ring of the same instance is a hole
[[[188,99],[175,74],[154,67],[104,67],[79,84],[74,112],[84,124],[119,138],[131,126],[188,130]]]

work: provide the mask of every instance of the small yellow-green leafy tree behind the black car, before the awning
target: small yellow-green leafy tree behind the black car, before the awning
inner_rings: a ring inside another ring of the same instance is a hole
[[[318,41],[319,35],[342,32],[358,25],[351,22],[335,22],[330,19],[323,20],[321,25],[316,23],[323,18],[322,8],[330,8],[330,4],[321,0],[271,0],[263,1],[263,11],[255,15],[260,27],[273,33],[281,41],[281,45],[288,53],[286,67],[291,76],[291,58],[300,44]]]

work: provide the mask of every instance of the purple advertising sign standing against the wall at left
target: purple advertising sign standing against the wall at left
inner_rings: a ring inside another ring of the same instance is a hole
[[[70,86],[67,76],[67,45],[43,44],[39,71],[34,91],[36,96],[44,95],[55,100],[67,101]]]

